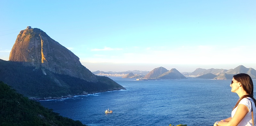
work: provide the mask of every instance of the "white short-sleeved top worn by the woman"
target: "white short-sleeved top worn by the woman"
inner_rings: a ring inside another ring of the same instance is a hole
[[[251,104],[249,99],[252,101],[252,104]],[[250,97],[248,97],[248,99],[243,98],[239,102],[238,105],[240,105],[240,104],[243,104],[243,105],[247,106],[248,109],[249,109],[249,112],[245,115],[244,119],[237,126],[252,126],[252,109],[253,109],[253,121],[254,121],[254,124],[256,124],[255,123],[256,122],[256,107],[255,107],[255,104],[254,104],[252,98],[250,98]],[[237,106],[231,113],[232,118],[236,113],[236,109],[237,109]]]

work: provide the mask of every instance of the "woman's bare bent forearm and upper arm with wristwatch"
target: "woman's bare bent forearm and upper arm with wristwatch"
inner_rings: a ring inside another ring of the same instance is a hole
[[[237,126],[244,119],[245,115],[248,112],[249,112],[248,107],[243,104],[240,104],[237,106],[236,113],[233,116],[233,118],[229,117],[228,119],[230,120],[228,121],[227,119],[227,122],[226,120],[225,122],[219,122],[218,126]],[[216,126],[216,122],[214,123],[213,126]]]

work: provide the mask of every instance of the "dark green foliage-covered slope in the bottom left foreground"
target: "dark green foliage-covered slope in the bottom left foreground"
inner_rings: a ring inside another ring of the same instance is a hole
[[[23,97],[0,81],[0,126],[85,126],[80,121],[43,107],[39,102]]]

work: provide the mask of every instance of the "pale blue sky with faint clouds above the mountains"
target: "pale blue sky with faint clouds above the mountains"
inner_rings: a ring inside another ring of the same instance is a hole
[[[256,69],[256,0],[2,0],[0,59],[27,26],[92,72]]]

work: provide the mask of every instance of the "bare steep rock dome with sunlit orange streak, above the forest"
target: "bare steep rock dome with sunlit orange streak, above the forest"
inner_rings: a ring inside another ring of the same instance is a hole
[[[38,28],[20,31],[9,60],[26,62],[36,68],[48,69],[54,73],[70,75],[89,82],[98,81],[73,52]]]

